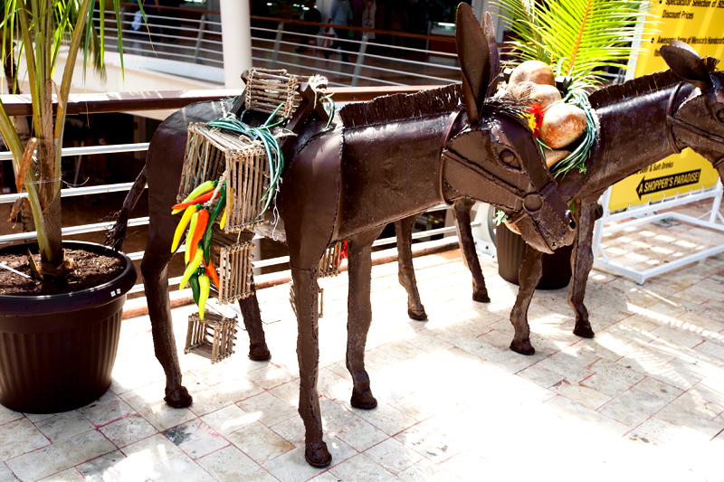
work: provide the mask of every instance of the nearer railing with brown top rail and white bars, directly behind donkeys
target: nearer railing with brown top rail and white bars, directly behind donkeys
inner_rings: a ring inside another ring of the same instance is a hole
[[[378,95],[386,95],[394,92],[414,92],[422,90],[423,87],[409,87],[405,89],[401,88],[365,88],[365,89],[332,89],[335,92],[335,99],[339,102],[348,102],[353,100],[367,100],[372,99]],[[230,95],[229,90],[220,90],[212,92],[201,92],[197,95],[190,95],[189,93],[180,92],[154,92],[149,93],[138,93],[138,92],[119,92],[107,94],[108,102],[99,100],[99,96],[103,94],[87,94],[80,95],[77,99],[74,99],[69,104],[69,111],[71,112],[84,112],[84,113],[99,113],[99,112],[111,112],[111,111],[129,111],[129,110],[160,110],[168,109],[169,106],[182,107],[185,104],[202,100],[202,99],[225,99]],[[234,91],[235,95],[241,94],[241,91]],[[30,114],[30,105],[26,102],[25,96],[2,96],[4,103],[7,104],[10,115],[28,115]],[[7,101],[7,102],[5,102]],[[108,104],[112,104],[110,107]],[[111,154],[119,152],[138,152],[145,151],[148,149],[148,143],[138,144],[124,144],[115,146],[84,146],[84,147],[69,147],[64,148],[62,156],[88,156],[93,154]],[[0,153],[0,162],[12,159],[12,155],[9,152]],[[61,190],[62,198],[79,195],[97,195],[107,194],[116,192],[128,192],[133,183],[123,184],[106,184],[106,185],[93,185],[84,187],[63,187]],[[26,193],[21,194],[2,194],[0,195],[0,204],[3,203],[14,203],[16,199],[27,197]],[[442,204],[434,207],[428,213],[435,211],[442,211],[449,209],[450,206]],[[71,236],[81,233],[88,232],[103,232],[112,227],[114,222],[96,222],[92,224],[84,224],[79,226],[70,226],[62,228],[63,236]],[[132,218],[129,220],[129,227],[133,226],[144,226],[148,224],[148,216]],[[431,236],[444,234],[448,232],[454,232],[455,227],[445,227],[441,229],[435,229],[424,232],[415,232],[413,239],[428,238]],[[16,243],[22,241],[31,241],[35,239],[35,232],[19,232],[16,234],[9,234],[0,236],[0,245],[7,243]],[[254,239],[260,239],[256,236]],[[373,246],[385,246],[396,243],[396,238],[385,238],[375,241]],[[177,252],[184,252],[185,246],[179,248]],[[131,260],[140,260],[143,258],[143,251],[129,253]],[[269,266],[281,265],[289,262],[289,257],[283,256],[267,260],[258,260],[254,262],[255,268],[263,268]],[[177,285],[181,277],[169,279],[169,286]],[[130,292],[139,292],[143,290],[142,285],[137,285]]]

